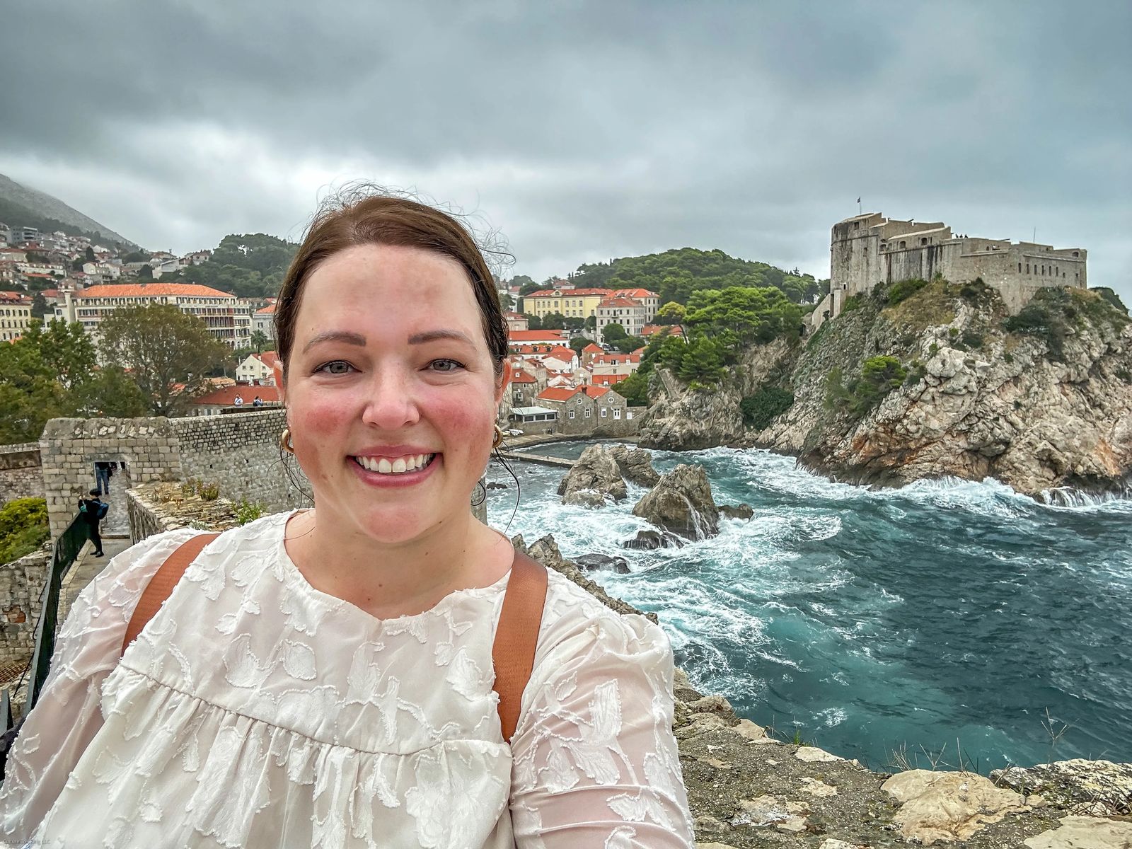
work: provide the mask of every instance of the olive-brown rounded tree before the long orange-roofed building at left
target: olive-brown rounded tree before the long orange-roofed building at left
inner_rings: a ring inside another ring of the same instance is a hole
[[[129,369],[157,415],[185,409],[205,377],[231,351],[196,316],[171,305],[122,307],[102,320],[108,358]],[[183,384],[183,391],[175,392]]]

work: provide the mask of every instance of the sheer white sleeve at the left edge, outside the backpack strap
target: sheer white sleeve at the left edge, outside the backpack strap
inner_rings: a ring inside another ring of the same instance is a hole
[[[102,683],[121,655],[126,626],[149,578],[199,533],[151,537],[118,555],[79,593],[55,642],[51,672],[8,754],[0,787],[0,839],[29,840],[102,726]]]

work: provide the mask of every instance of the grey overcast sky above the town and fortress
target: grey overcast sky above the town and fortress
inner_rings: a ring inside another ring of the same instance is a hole
[[[1132,302],[1130,44],[1129,0],[46,0],[0,27],[0,173],[174,251],[414,188],[537,280],[685,246],[826,277],[861,196],[1086,248]]]

